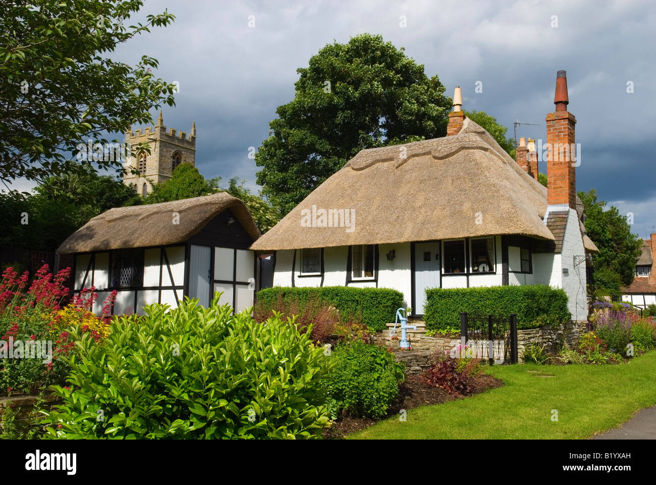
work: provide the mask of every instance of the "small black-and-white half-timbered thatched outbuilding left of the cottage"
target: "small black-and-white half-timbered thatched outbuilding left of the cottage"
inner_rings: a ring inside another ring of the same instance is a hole
[[[96,287],[102,301],[117,291],[113,314],[146,304],[176,306],[183,296],[237,311],[253,305],[258,277],[249,246],[260,237],[241,200],[226,193],[110,209],[73,233],[58,254],[74,256],[73,292]]]

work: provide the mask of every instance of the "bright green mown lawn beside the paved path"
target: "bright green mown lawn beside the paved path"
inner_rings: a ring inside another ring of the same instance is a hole
[[[656,351],[618,365],[495,365],[488,372],[506,385],[409,409],[405,422],[388,419],[348,438],[581,439],[656,404]]]

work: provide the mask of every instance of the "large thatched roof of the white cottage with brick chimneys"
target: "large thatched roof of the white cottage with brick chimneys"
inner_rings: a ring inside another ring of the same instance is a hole
[[[303,227],[301,211],[312,206],[354,209],[354,230]],[[546,187],[524,172],[487,131],[465,118],[458,135],[361,150],[251,248],[498,234],[554,241],[542,219],[546,206]]]

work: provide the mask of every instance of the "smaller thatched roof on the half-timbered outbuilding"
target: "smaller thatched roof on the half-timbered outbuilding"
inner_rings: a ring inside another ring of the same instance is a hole
[[[245,204],[222,192],[161,204],[110,209],[70,235],[57,252],[70,254],[182,243],[226,209],[230,209],[254,240],[260,237]],[[180,215],[179,224],[173,223],[173,212]]]

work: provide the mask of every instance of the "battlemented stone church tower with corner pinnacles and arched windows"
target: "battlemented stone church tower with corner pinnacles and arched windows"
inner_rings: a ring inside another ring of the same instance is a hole
[[[150,145],[150,154],[139,152],[137,143],[146,142]],[[132,127],[125,133],[125,143],[131,147],[131,156],[125,160],[128,171],[123,175],[125,185],[136,184],[136,192],[146,195],[152,191],[150,182],[159,183],[171,178],[173,169],[180,164],[195,165],[196,156],[196,124],[192,124],[192,132],[187,137],[184,131],[169,128],[167,133],[163,125],[162,112],[159,112],[157,125],[146,126],[146,129],[132,131]],[[138,170],[139,175],[131,173],[131,168]]]

